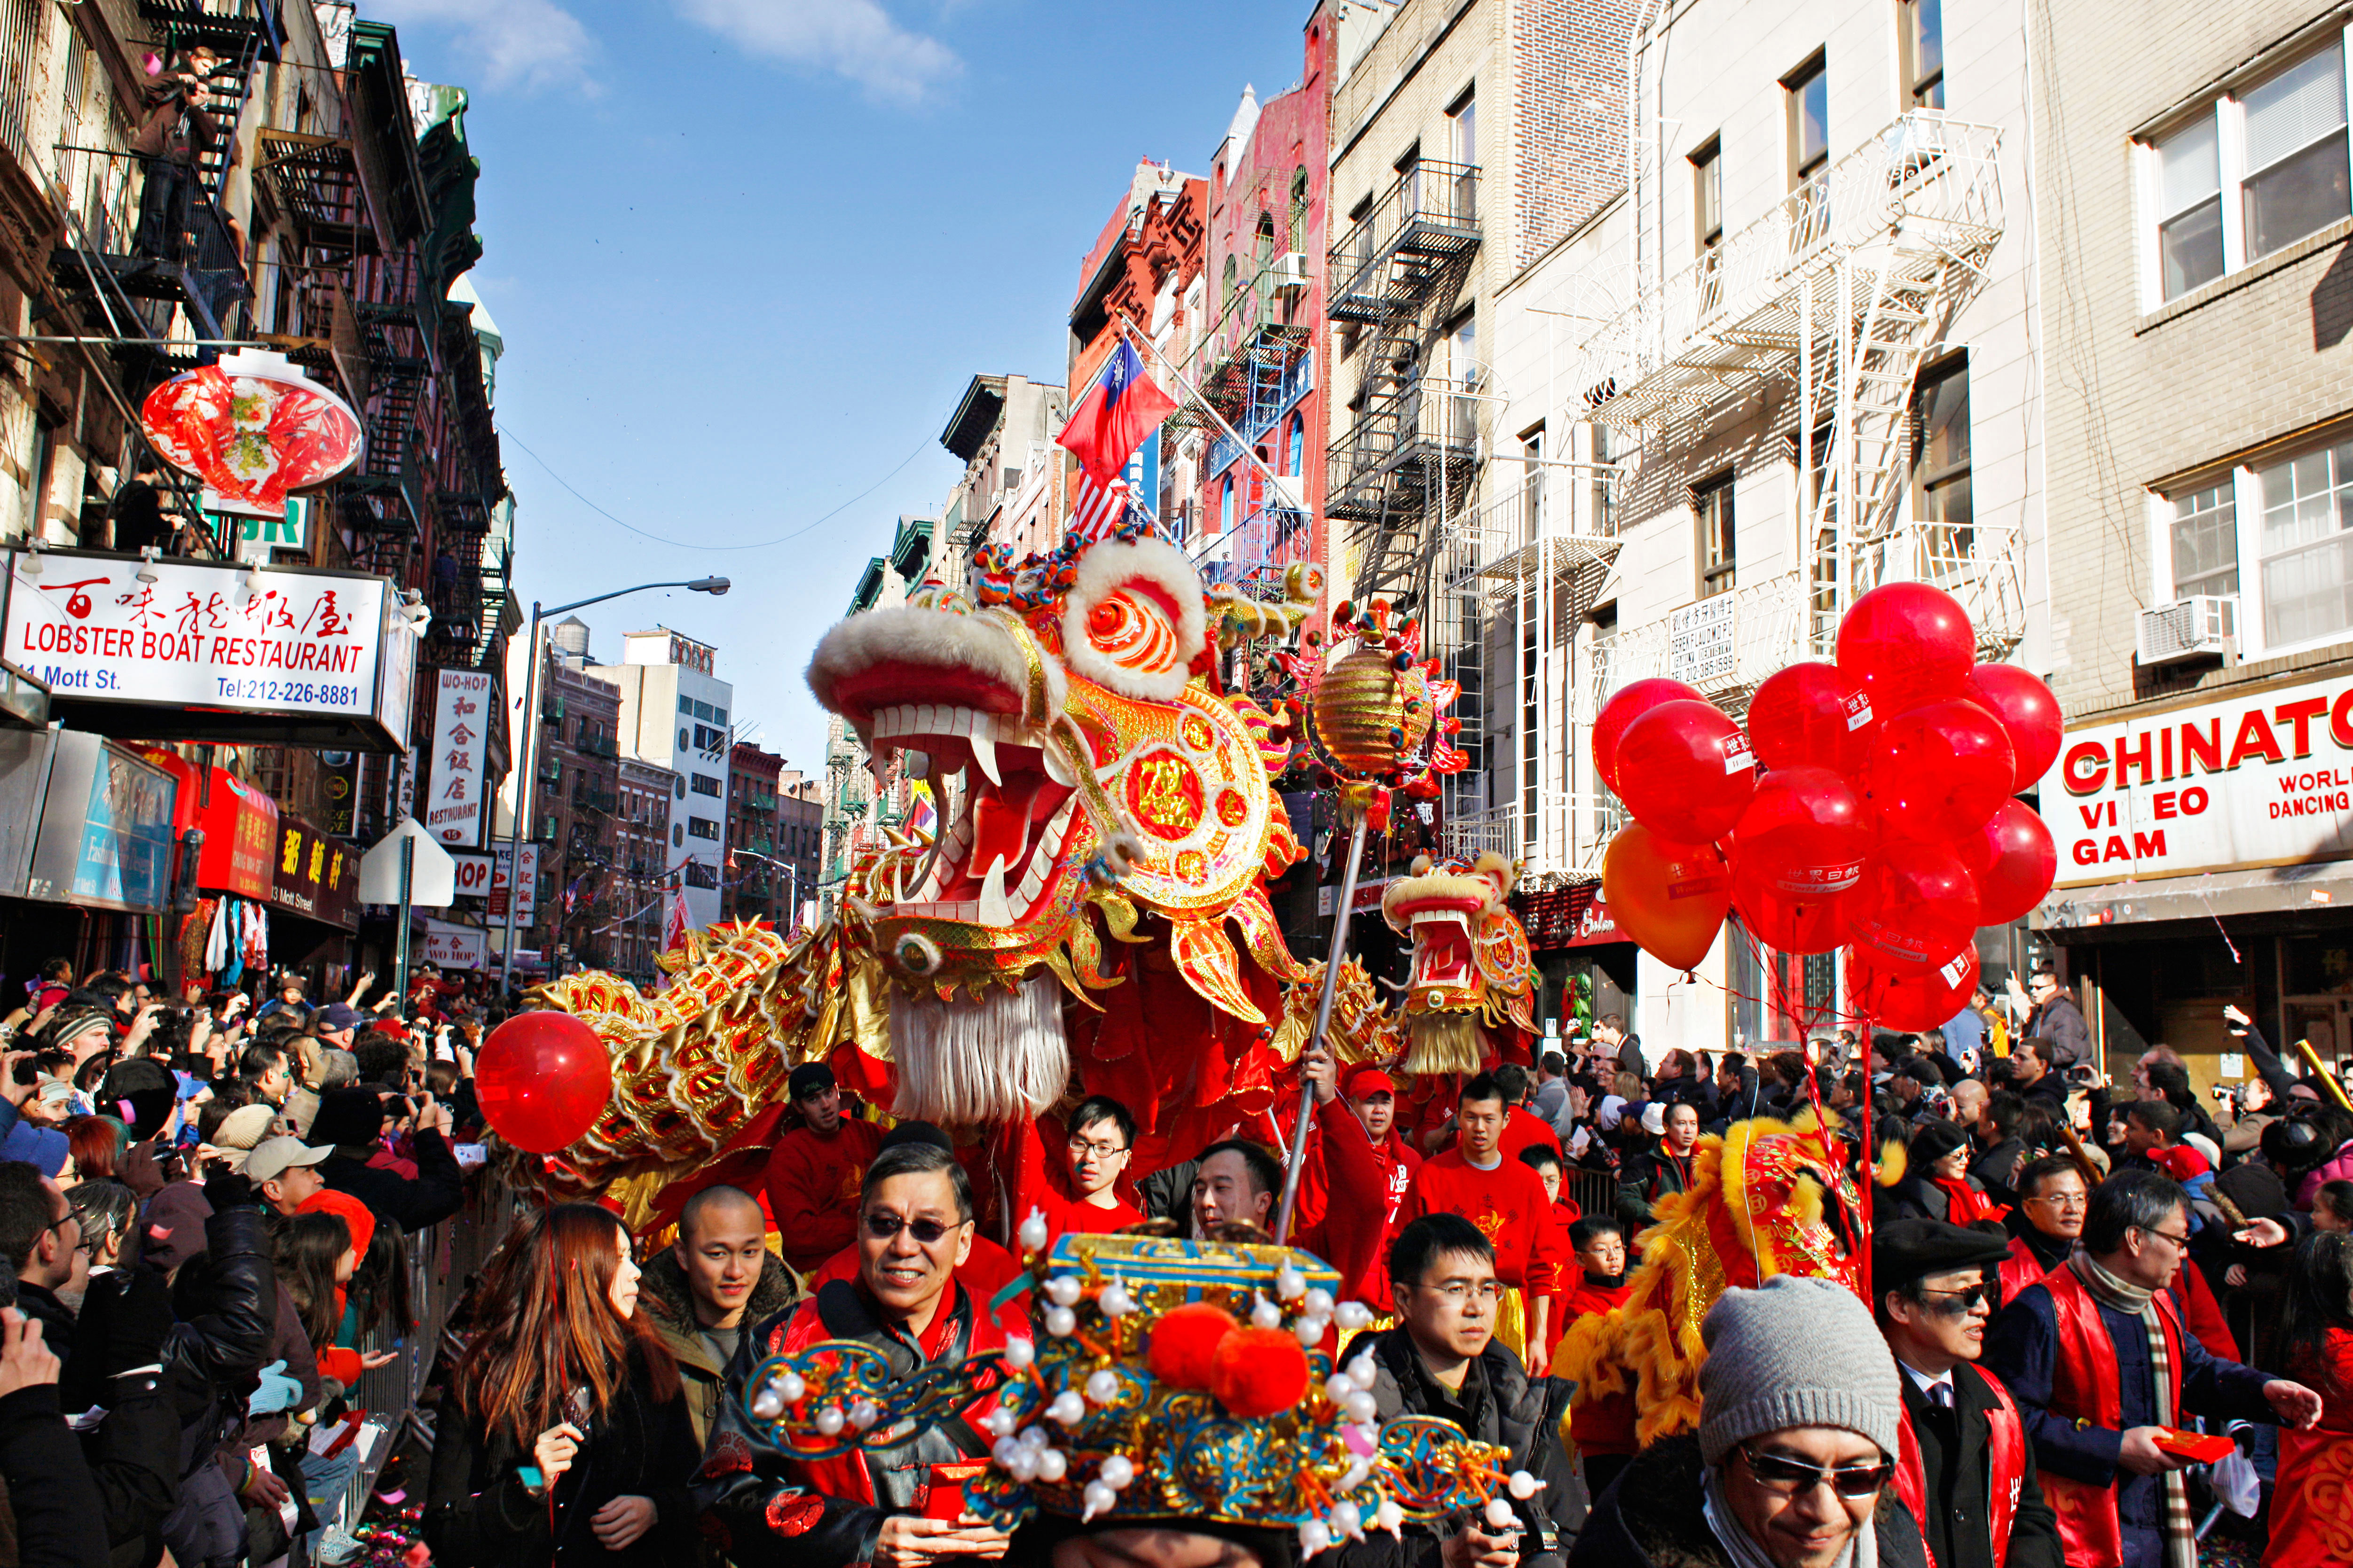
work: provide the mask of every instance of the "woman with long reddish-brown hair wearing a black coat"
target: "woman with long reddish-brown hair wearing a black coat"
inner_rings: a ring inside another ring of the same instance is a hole
[[[433,1561],[696,1563],[701,1448],[621,1220],[593,1204],[527,1215],[482,1272],[475,1324],[433,1427]]]

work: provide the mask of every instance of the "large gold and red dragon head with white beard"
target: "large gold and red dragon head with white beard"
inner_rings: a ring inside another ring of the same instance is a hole
[[[941,806],[845,900],[889,980],[899,1114],[972,1126],[1061,1095],[1061,994],[1115,983],[1096,912],[1125,940],[1162,917],[1193,990],[1266,1023],[1224,924],[1289,978],[1264,891],[1304,853],[1268,788],[1289,743],[1217,691],[1217,651],[1294,630],[1318,592],[1294,567],[1285,604],[1205,595],[1155,538],[1073,541],[1019,571],[1000,545],[972,597],[927,583],[819,642],[816,701]]]

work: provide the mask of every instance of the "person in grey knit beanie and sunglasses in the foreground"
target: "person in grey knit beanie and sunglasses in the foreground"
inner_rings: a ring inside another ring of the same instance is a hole
[[[1725,1291],[1699,1338],[1699,1432],[1633,1458],[1567,1568],[1925,1568],[1889,1488],[1904,1392],[1871,1309],[1777,1274]]]

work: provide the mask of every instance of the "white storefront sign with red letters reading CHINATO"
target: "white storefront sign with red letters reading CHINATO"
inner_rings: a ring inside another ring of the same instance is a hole
[[[2071,726],[2042,820],[2061,889],[2353,858],[2353,679]]]

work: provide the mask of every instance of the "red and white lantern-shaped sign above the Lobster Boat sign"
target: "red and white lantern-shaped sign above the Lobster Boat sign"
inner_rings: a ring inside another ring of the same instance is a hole
[[[172,376],[139,407],[148,444],[205,482],[205,505],[285,517],[287,496],[360,461],[365,430],[351,404],[266,350],[221,355]]]

